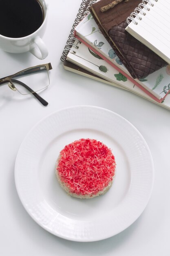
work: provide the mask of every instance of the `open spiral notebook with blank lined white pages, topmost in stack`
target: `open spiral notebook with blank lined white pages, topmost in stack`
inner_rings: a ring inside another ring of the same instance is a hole
[[[145,0],[127,18],[126,31],[170,64],[170,1]]]

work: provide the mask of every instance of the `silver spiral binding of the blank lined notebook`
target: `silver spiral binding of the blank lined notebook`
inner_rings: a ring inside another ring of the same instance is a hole
[[[135,8],[135,10],[126,19],[127,23],[130,24],[130,22],[132,21],[135,25],[137,25],[138,24],[137,20],[142,20],[142,16],[140,15],[145,16],[147,11],[150,11],[149,7],[153,7],[154,2],[158,2],[158,1],[159,0],[142,0],[142,2],[138,4],[138,7]]]

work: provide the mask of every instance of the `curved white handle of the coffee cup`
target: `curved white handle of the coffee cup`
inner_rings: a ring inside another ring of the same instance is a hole
[[[46,45],[44,44],[43,40],[39,36],[37,36],[33,40],[33,43],[31,44],[31,49],[29,51],[40,60],[43,60],[48,56],[48,50],[46,48]]]

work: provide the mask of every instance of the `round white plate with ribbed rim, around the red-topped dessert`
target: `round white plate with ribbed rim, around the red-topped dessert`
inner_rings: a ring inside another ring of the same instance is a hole
[[[105,195],[68,196],[55,177],[56,159],[66,144],[80,138],[102,141],[112,149],[117,172]],[[20,200],[41,227],[73,241],[109,238],[142,213],[152,191],[154,168],[139,131],[110,110],[74,106],[41,120],[22,142],[15,163]]]

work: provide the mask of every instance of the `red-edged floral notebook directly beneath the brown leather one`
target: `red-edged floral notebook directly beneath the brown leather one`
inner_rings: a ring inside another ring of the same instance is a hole
[[[88,46],[91,56],[105,60],[119,72],[114,74],[117,81],[121,76],[130,79],[132,83],[144,90],[157,102],[163,101],[170,90],[170,65],[146,76],[143,79],[132,79],[126,67],[121,63],[110,44],[103,36],[91,13],[89,13],[75,28],[74,36]],[[108,66],[108,68],[109,68]]]

